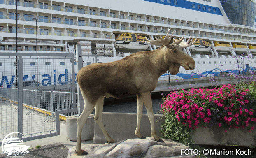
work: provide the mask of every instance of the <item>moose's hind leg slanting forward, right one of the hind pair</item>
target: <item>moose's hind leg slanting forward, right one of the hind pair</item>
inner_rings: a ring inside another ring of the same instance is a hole
[[[100,129],[102,130],[107,142],[109,143],[115,143],[116,141],[114,141],[109,134],[107,133],[107,131],[105,130],[105,127],[103,125],[103,121],[102,121],[102,111],[103,111],[103,102],[104,102],[104,96],[99,98],[99,100],[96,103],[95,106],[95,116],[94,116],[94,120],[96,121],[96,123],[99,125]]]

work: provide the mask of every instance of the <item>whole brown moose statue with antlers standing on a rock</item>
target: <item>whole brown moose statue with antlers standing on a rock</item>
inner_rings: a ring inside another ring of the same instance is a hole
[[[128,95],[137,95],[137,128],[135,136],[145,138],[140,133],[140,121],[142,118],[143,103],[147,109],[147,114],[151,124],[152,139],[158,142],[163,140],[156,134],[154,126],[154,113],[152,109],[151,91],[156,88],[158,78],[169,70],[175,75],[179,72],[179,67],[185,70],[193,70],[195,61],[184,51],[194,44],[185,42],[183,37],[173,42],[173,33],[164,39],[154,40],[150,37],[147,43],[151,45],[161,45],[153,51],[141,51],[125,58],[109,63],[95,63],[83,67],[77,73],[77,83],[84,98],[84,110],[77,118],[77,144],[76,153],[78,155],[88,154],[81,150],[81,132],[87,117],[95,107],[94,120],[102,130],[107,142],[115,141],[109,136],[102,122],[103,99],[104,97],[122,98]],[[196,41],[196,40],[195,40]],[[189,43],[189,44],[188,44]]]

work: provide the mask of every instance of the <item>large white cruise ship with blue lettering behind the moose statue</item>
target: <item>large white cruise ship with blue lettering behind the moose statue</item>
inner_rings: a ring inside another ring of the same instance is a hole
[[[105,63],[157,49],[144,37],[163,38],[170,29],[175,38],[198,38],[184,49],[194,58],[196,69],[180,67],[177,77],[255,70],[256,0],[18,0],[17,5],[16,48],[16,0],[0,0],[0,53],[16,49],[36,53],[36,41],[39,53],[76,53],[76,44],[81,44],[82,53],[95,54],[98,63]],[[9,58],[0,59],[0,86],[13,86],[15,59]],[[35,80],[35,61],[31,58],[27,63],[24,81]],[[40,84],[56,82],[46,75],[53,72],[60,83],[70,81],[70,69],[51,65],[70,63],[61,59],[38,63]],[[159,80],[166,76],[168,72]]]

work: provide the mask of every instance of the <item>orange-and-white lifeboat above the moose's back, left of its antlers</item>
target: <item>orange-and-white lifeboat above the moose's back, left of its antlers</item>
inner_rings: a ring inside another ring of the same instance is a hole
[[[116,37],[114,46],[116,49],[137,49],[137,50],[146,50],[149,47],[145,37],[140,36],[135,33],[123,33],[122,35]]]

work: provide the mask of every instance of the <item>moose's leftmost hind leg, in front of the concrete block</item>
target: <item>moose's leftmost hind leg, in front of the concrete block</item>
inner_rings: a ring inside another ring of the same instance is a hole
[[[88,154],[86,151],[81,150],[81,134],[86,123],[88,116],[93,111],[94,105],[84,99],[84,110],[81,115],[77,118],[77,145],[76,145],[76,153],[78,155],[86,155]]]

